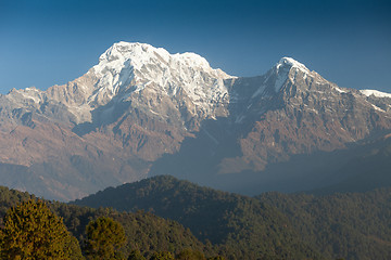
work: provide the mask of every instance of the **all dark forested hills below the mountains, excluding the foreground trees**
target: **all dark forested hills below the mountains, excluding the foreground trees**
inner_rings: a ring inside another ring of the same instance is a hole
[[[29,198],[35,196],[0,187],[0,217]],[[148,258],[191,249],[232,260],[391,259],[391,187],[326,196],[247,197],[165,176],[75,202],[97,209],[47,204],[81,246],[91,220],[118,221],[127,237],[124,256],[135,249]]]

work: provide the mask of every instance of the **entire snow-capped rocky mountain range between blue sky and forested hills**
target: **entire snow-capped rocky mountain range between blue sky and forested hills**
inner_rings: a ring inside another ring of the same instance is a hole
[[[391,94],[340,88],[290,57],[239,78],[118,42],[74,81],[0,96],[0,177],[60,200],[167,173],[248,194],[319,190],[390,132]]]

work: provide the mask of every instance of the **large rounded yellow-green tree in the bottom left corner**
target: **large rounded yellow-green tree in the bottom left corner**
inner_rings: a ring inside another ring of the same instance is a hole
[[[1,233],[1,259],[83,258],[62,219],[40,200],[29,199],[10,208]]]

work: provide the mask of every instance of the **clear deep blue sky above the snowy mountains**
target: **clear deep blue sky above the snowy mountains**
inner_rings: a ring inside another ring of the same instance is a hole
[[[236,76],[281,56],[391,92],[391,4],[361,0],[0,0],[0,93],[85,74],[114,42],[191,51]]]

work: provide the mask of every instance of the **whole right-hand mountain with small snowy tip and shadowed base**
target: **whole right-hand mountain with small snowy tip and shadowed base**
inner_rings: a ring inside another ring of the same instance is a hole
[[[266,75],[227,81],[229,117],[204,121],[150,174],[256,195],[333,185],[356,146],[390,132],[390,95],[340,88],[285,57]]]

